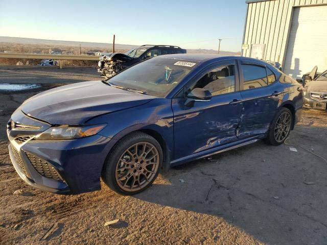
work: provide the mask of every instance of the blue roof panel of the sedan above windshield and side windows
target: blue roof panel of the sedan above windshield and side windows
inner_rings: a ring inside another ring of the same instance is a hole
[[[160,55],[156,58],[172,58],[172,59],[180,59],[180,60],[190,60],[196,62],[204,62],[208,60],[216,60],[216,61],[224,61],[224,60],[244,60],[244,61],[256,61],[266,63],[263,60],[258,60],[254,58],[242,57],[242,56],[222,56],[215,54],[173,54],[173,55]]]

